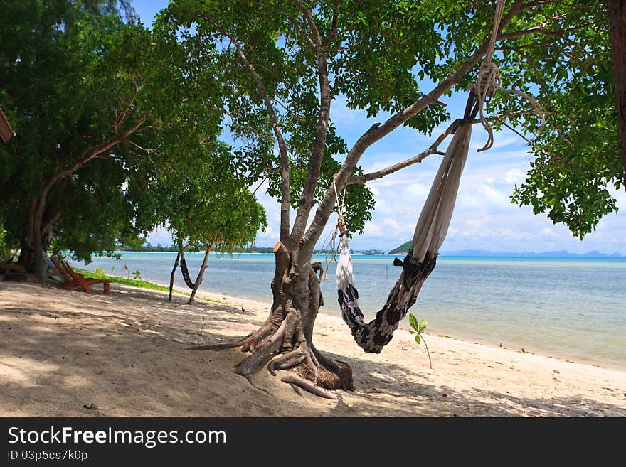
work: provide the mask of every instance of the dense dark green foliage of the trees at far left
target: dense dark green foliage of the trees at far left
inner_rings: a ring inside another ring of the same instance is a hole
[[[220,132],[203,58],[188,60],[176,41],[157,44],[122,6],[2,8],[0,105],[17,136],[0,146],[0,196],[14,247],[39,205],[36,228],[54,223],[53,245],[79,259],[133,242],[157,222],[146,196],[157,168]]]

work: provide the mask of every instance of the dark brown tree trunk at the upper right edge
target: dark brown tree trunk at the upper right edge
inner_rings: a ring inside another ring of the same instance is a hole
[[[624,186],[626,189],[626,1],[607,0],[609,33],[615,67],[615,110],[620,132]]]

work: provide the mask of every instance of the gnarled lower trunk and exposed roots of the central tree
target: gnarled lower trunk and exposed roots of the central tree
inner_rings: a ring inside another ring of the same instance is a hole
[[[274,247],[275,274],[272,279],[272,309],[265,323],[253,333],[234,343],[205,345],[188,350],[222,350],[239,347],[250,353],[235,372],[252,382],[256,372],[267,367],[291,370],[281,377],[299,392],[300,388],[321,397],[334,396],[319,389],[354,390],[352,370],[343,362],[325,357],[313,344],[313,327],[319,307],[324,304],[319,281],[322,264],[311,262],[310,252],[300,247],[288,250],[282,242]],[[307,258],[308,257],[308,258]]]

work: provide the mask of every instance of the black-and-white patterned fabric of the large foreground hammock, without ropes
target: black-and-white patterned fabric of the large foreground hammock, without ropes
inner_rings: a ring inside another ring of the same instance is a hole
[[[403,261],[398,258],[393,261],[395,266],[402,267],[400,279],[391,289],[381,311],[369,323],[365,322],[359,308],[359,291],[354,286],[348,237],[341,236],[336,272],[341,317],[356,343],[367,353],[381,353],[391,341],[393,331],[415,304],[424,281],[435,268],[437,252],[450,226],[471,135],[471,123],[462,123],[455,131],[420,213],[412,248]]]

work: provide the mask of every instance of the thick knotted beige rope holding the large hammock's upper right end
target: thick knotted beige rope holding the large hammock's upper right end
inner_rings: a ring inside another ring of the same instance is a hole
[[[543,110],[543,108],[541,108],[541,105],[539,105],[536,100],[534,100],[533,97],[527,95],[526,92],[523,91],[511,90],[506,87],[502,87],[500,70],[498,69],[498,65],[496,65],[492,61],[492,58],[494,56],[496,39],[500,30],[500,21],[502,20],[502,13],[504,12],[504,2],[505,0],[497,0],[496,11],[494,14],[494,28],[492,30],[492,35],[489,38],[489,43],[487,44],[487,53],[485,54],[484,60],[480,64],[480,68],[478,71],[478,80],[474,85],[474,92],[478,101],[479,120],[482,124],[482,127],[485,129],[485,131],[487,131],[487,142],[484,144],[484,146],[482,146],[482,148],[477,149],[477,152],[487,151],[488,149],[491,149],[494,145],[494,130],[487,121],[487,118],[484,116],[483,108],[485,104],[489,105],[489,101],[494,96],[496,90],[502,90],[504,92],[518,95],[519,97],[523,97],[527,102],[529,102],[534,112],[538,114],[541,118],[541,126],[539,127],[539,132],[541,132],[544,125],[546,124],[546,112]]]

